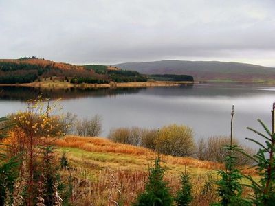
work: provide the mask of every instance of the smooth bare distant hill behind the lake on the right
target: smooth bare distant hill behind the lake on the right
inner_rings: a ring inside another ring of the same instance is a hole
[[[115,67],[143,74],[184,74],[195,81],[275,82],[275,68],[238,62],[162,60],[129,62]]]

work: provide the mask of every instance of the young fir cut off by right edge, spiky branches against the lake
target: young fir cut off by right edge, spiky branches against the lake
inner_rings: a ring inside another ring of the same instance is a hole
[[[253,128],[248,127],[249,130],[260,135],[265,139],[265,144],[261,144],[255,139],[246,138],[260,146],[259,151],[256,155],[251,157],[243,153],[244,155],[252,158],[256,165],[256,170],[260,174],[260,181],[254,181],[251,176],[246,176],[250,181],[251,185],[247,185],[254,190],[254,196],[252,196],[252,201],[255,205],[271,206],[275,205],[275,124],[274,124],[274,111],[275,103],[272,108],[272,131],[270,131],[267,126],[260,120],[261,126],[267,133],[266,135],[260,133]]]

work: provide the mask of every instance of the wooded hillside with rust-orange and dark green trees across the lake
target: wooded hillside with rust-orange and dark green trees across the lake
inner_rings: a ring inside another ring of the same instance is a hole
[[[72,84],[109,84],[110,82],[146,82],[137,71],[105,65],[70,65],[44,58],[25,57],[0,60],[0,84],[25,84],[47,80]]]

